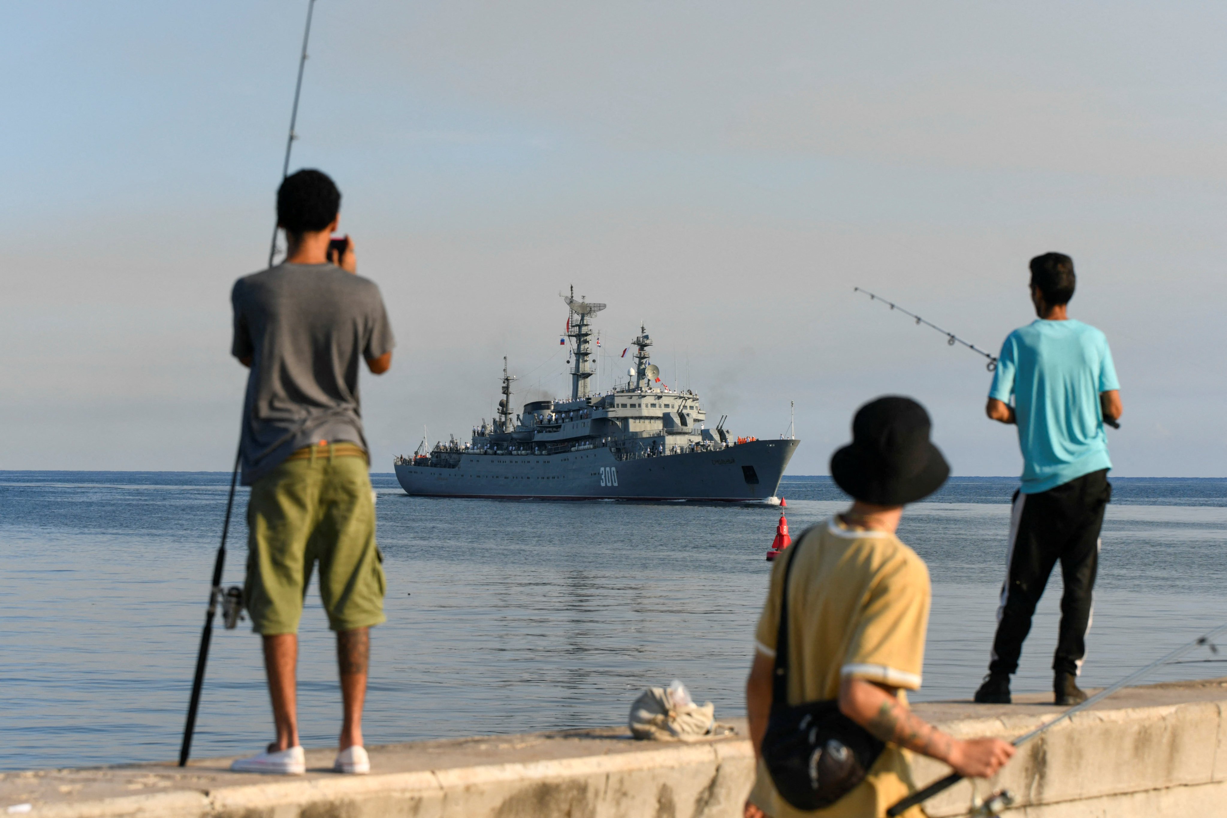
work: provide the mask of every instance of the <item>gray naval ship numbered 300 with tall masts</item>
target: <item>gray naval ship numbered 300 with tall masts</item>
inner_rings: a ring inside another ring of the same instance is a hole
[[[548,500],[723,500],[775,504],[775,489],[796,450],[793,437],[734,437],[721,417],[707,428],[699,396],[660,384],[650,363],[652,338],[639,327],[634,367],[604,395],[588,391],[593,377],[593,316],[605,304],[563,300],[574,367],[568,400],[539,400],[512,410],[503,358],[498,415],[472,429],[469,443],[453,437],[412,457],[396,457],[396,480],[421,497]]]

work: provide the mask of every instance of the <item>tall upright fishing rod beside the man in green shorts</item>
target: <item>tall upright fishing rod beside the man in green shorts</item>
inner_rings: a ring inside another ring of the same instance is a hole
[[[290,151],[293,148],[294,123],[298,120],[298,97],[303,87],[303,67],[307,65],[307,42],[310,39],[310,18],[315,10],[315,0],[307,0],[307,28],[303,31],[302,55],[298,58],[298,80],[294,83],[294,104],[290,112],[290,136],[286,139],[286,158],[281,164],[282,180],[290,173]],[[277,226],[272,227],[272,247],[269,248],[269,266],[272,266],[272,258],[277,253]],[[196,673],[191,679],[191,698],[188,701],[188,720],[183,726],[183,743],[179,746],[179,766],[188,765],[188,757],[191,754],[191,736],[196,731],[196,714],[200,710],[200,694],[205,686],[205,665],[209,661],[209,643],[213,636],[213,617],[217,616],[218,605],[222,608],[222,623],[226,628],[233,629],[243,616],[243,589],[236,586],[222,590],[222,569],[226,567],[226,537],[229,535],[231,513],[234,510],[234,488],[238,484],[238,468],[243,462],[243,445],[239,443],[238,454],[234,455],[234,468],[231,471],[229,495],[226,498],[226,519],[222,522],[222,542],[217,547],[217,559],[213,562],[213,581],[209,586],[209,607],[205,611],[205,627],[200,632],[200,650],[196,652]]]

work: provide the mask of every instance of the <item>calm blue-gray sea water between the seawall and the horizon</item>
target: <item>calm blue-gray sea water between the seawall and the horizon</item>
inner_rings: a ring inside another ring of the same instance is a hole
[[[177,755],[227,480],[0,472],[0,769]],[[368,743],[620,724],[640,688],[675,677],[718,717],[742,713],[778,510],[416,499],[374,482],[389,622],[373,634]],[[1227,481],[1113,482],[1090,686],[1227,621]],[[952,480],[904,515],[934,581],[917,699],[967,698],[985,672],[1014,488]],[[780,493],[794,532],[847,502],[827,478]],[[227,584],[242,581],[244,505]],[[1049,688],[1059,596],[1056,571],[1016,690]],[[314,590],[301,638],[303,743],[330,746],[339,692]],[[194,754],[270,738],[259,639],[215,632]]]

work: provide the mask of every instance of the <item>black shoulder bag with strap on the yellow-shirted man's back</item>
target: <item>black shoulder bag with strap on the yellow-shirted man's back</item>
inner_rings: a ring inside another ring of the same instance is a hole
[[[864,781],[886,744],[839,713],[838,700],[788,704],[788,580],[801,542],[804,538],[793,546],[784,569],[771,717],[762,754],[785,801],[798,809],[821,809]]]

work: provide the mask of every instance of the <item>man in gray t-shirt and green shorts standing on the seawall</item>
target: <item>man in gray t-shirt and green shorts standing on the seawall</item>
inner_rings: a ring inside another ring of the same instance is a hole
[[[356,275],[353,243],[331,249],[341,194],[319,170],[277,191],[286,261],[239,278],[232,352],[252,374],[243,405],[248,559],[243,600],[264,638],[276,741],[232,769],[302,774],[296,663],[310,575],[336,632],[345,722],[339,773],[368,773],[362,747],[369,628],[384,622],[385,578],[375,546],[374,492],[362,433],[358,369],[391,367],[393,337],[379,288]]]

